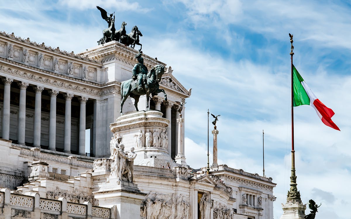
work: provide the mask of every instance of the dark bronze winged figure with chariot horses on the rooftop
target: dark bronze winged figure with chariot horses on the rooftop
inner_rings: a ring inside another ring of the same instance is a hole
[[[102,31],[102,38],[98,41],[98,45],[115,40],[124,44],[125,46],[131,46],[133,48],[135,47],[135,45],[140,45],[139,51],[141,51],[142,45],[139,42],[139,36],[143,36],[143,34],[141,34],[137,26],[134,26],[132,28],[132,31],[129,34],[127,34],[125,28],[127,23],[123,21],[121,24],[121,28],[119,30],[116,30],[114,27],[114,13],[109,14],[109,16],[107,16],[108,13],[104,9],[100,8],[99,6],[96,7],[101,12],[101,17],[108,23],[108,28]]]

